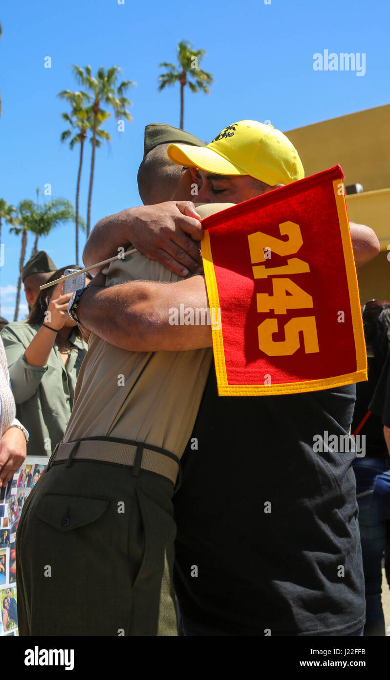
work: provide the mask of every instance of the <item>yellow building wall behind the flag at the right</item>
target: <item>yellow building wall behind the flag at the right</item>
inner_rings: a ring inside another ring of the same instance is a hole
[[[378,257],[357,271],[361,302],[390,301],[390,104],[286,132],[305,174],[340,163],[344,183],[364,192],[347,196],[349,219],[372,227],[380,241]]]

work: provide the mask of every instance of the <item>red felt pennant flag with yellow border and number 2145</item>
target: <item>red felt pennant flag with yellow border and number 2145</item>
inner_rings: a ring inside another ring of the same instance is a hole
[[[336,165],[202,221],[220,396],[367,379],[343,177]]]

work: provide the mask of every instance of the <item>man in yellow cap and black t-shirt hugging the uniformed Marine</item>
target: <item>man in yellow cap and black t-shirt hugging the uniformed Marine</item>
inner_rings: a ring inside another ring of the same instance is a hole
[[[205,203],[244,201],[303,176],[285,136],[247,120],[205,148],[175,143],[168,154],[190,166],[197,200]],[[366,239],[359,258],[370,259],[378,252],[376,238],[366,227],[354,229]],[[170,309],[180,304],[207,307],[202,277],[111,290],[95,285],[83,294],[77,315],[109,343],[135,352],[211,346],[209,326],[171,326]],[[105,324],[109,314],[115,321]],[[347,435],[354,395],[354,386],[342,386],[219,398],[211,369],[175,496],[183,634],[361,634],[354,456],[313,450],[325,431]]]

